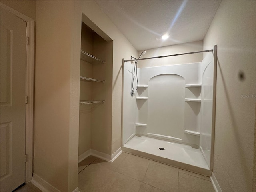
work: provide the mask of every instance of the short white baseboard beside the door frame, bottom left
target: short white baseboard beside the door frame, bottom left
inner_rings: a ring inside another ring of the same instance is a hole
[[[34,186],[36,186],[43,192],[61,192],[60,190],[40,178],[37,174],[33,174],[31,182],[32,184],[34,184]]]

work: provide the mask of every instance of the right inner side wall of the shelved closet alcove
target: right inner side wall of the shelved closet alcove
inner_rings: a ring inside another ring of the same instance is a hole
[[[92,86],[92,98],[105,100],[103,104],[92,109],[92,149],[111,154],[111,109],[112,106],[112,63],[113,42],[106,42],[98,34],[94,33],[93,55],[105,60],[103,64],[92,66],[93,78],[105,80],[105,83],[94,83]]]

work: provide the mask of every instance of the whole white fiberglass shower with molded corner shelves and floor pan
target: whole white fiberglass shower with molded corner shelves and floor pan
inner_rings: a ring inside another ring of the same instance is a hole
[[[135,59],[123,61],[123,151],[210,176],[217,46],[206,51],[202,62],[138,68],[137,74]],[[134,89],[138,80],[134,96],[132,78]]]

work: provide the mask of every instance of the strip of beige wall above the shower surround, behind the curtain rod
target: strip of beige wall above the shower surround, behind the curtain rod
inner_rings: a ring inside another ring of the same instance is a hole
[[[202,51],[202,50],[203,50],[203,41],[195,41],[190,43],[148,49],[146,50],[147,53],[144,54],[141,58],[188,53],[188,52],[195,52],[195,51]],[[138,57],[143,51],[144,50],[138,51]],[[137,56],[134,56],[134,57],[138,58]],[[176,64],[185,64],[185,63],[196,63],[196,62],[201,62],[202,58],[203,58],[203,54],[197,53],[197,54],[188,54],[188,55],[182,55],[182,56],[150,59],[150,60],[140,60],[138,62],[138,67],[143,68],[143,67],[176,65]]]

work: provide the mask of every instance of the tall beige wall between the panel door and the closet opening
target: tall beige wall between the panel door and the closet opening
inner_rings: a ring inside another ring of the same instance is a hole
[[[62,192],[77,187],[73,22],[74,2],[36,2],[34,174]]]

